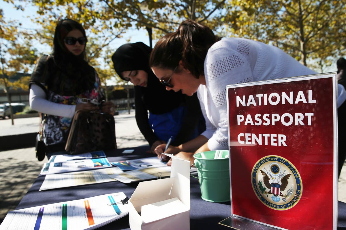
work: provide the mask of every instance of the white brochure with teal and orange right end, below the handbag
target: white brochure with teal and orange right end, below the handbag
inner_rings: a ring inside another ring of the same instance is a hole
[[[109,167],[112,166],[106,157],[96,159],[71,160],[65,162],[47,162],[43,165],[40,174],[73,172]]]

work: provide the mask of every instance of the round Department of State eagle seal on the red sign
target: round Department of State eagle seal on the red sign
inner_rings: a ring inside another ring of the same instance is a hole
[[[251,180],[257,198],[272,209],[290,209],[301,198],[300,174],[285,158],[273,155],[258,160]]]

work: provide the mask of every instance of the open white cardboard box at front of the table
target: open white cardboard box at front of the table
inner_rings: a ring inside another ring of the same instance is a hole
[[[190,229],[190,161],[165,155],[171,177],[139,182],[129,199],[131,230]]]

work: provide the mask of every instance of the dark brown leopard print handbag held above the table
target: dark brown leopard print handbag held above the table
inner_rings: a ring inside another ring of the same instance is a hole
[[[76,111],[65,150],[80,154],[117,148],[114,117],[108,113]]]

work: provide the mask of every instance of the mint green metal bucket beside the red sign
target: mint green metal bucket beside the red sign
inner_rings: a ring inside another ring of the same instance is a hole
[[[217,152],[218,151],[218,152]],[[193,155],[202,199],[210,202],[231,200],[228,150],[200,152]],[[215,155],[219,158],[215,159]]]

